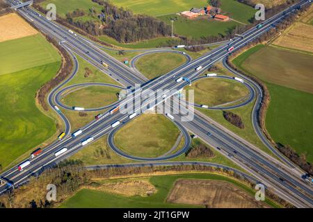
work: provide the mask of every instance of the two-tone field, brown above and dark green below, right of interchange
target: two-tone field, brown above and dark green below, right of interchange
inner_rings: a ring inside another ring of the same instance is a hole
[[[234,65],[266,83],[271,103],[266,128],[280,144],[312,156],[312,58],[305,53],[255,46],[233,60]],[[266,66],[264,66],[266,64]]]

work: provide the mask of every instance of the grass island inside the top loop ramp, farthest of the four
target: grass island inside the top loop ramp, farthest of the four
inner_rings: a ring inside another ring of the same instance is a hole
[[[185,56],[177,53],[154,53],[139,58],[136,67],[145,77],[157,78],[183,65]]]

